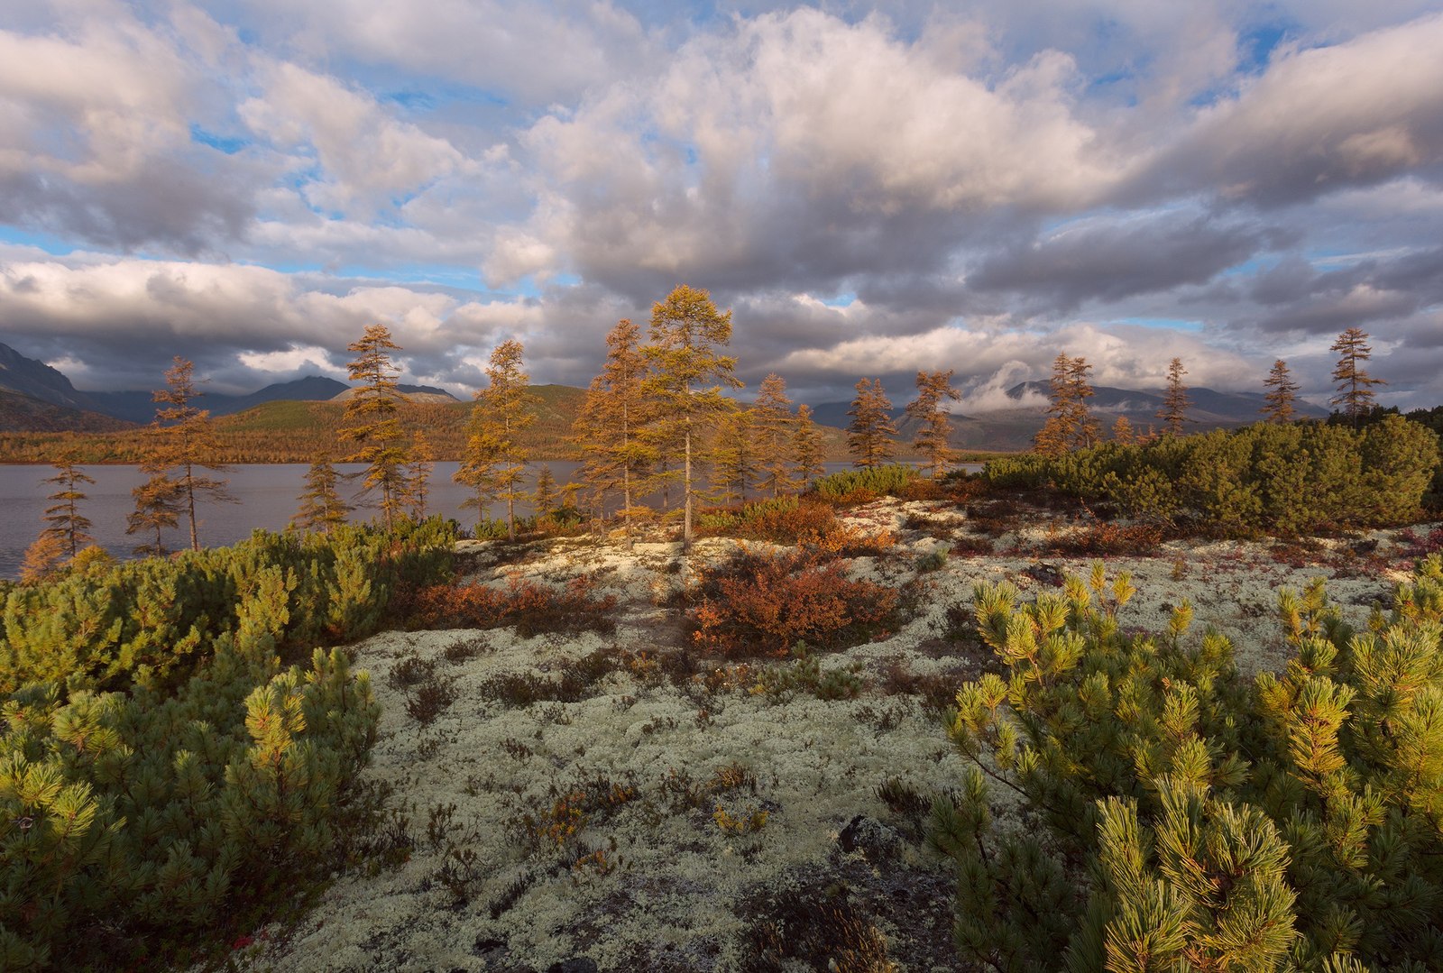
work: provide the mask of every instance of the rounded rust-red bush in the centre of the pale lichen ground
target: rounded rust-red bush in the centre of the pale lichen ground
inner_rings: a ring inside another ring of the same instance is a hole
[[[817,551],[742,550],[703,572],[693,638],[732,657],[784,657],[798,641],[837,648],[886,628],[898,603],[896,590],[851,580]]]

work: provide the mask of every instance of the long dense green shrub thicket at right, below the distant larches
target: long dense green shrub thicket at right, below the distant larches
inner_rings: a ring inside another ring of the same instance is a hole
[[[1010,456],[988,462],[986,475],[994,485],[1055,486],[1107,501],[1128,517],[1192,520],[1222,534],[1296,534],[1407,523],[1437,463],[1431,430],[1388,416],[1356,432],[1258,423],[1062,456]]]

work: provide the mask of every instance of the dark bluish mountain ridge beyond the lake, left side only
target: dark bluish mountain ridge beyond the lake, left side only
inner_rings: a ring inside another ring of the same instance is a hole
[[[400,385],[403,394],[417,401],[459,401],[444,388],[430,385]],[[81,391],[63,372],[42,361],[26,358],[14,348],[0,344],[0,390],[36,398],[51,406],[98,413],[127,423],[149,423],[156,417],[156,403],[150,390],[141,391]],[[306,375],[293,381],[266,385],[245,396],[205,393],[198,404],[212,416],[232,416],[268,401],[330,401],[348,397],[352,387],[325,375]],[[6,410],[9,414],[10,410]],[[33,410],[32,410],[33,411]],[[92,420],[85,420],[94,426]],[[7,427],[0,419],[0,427]],[[76,426],[76,429],[79,429]],[[95,429],[87,429],[94,432]]]

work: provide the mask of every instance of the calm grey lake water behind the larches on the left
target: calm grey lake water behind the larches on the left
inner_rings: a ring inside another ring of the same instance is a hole
[[[550,462],[551,475],[558,484],[566,484],[580,463]],[[470,492],[452,482],[452,475],[459,463],[436,463],[430,479],[430,497],[427,505],[433,514],[453,517],[465,527],[473,527],[476,512],[462,510],[462,502]],[[827,463],[827,472],[848,469],[848,463]],[[980,465],[965,463],[965,469],[981,469]],[[146,481],[136,466],[82,466],[84,472],[95,479],[94,485],[84,486],[87,499],[81,504],[81,514],[91,520],[91,536],[115,557],[130,557],[141,537],[126,534],[126,515],[136,508],[130,491]],[[234,544],[251,536],[253,530],[284,530],[286,524],[300,507],[297,497],[303,489],[303,479],[309,466],[306,463],[251,463],[235,465],[224,474],[216,474],[228,481],[229,491],[240,502],[216,504],[212,501],[198,502],[196,520],[201,543],[206,547]],[[359,463],[336,463],[336,471],[356,472],[364,469]],[[534,468],[535,469],[535,468]],[[45,478],[53,476],[53,466],[17,466],[0,465],[0,577],[17,577],[20,564],[25,562],[25,550],[29,547],[40,530],[45,527],[40,520],[49,505],[46,495],[58,488],[45,484]],[[342,497],[349,497],[349,486],[342,486]],[[351,491],[354,492],[354,491]],[[351,498],[352,502],[354,498]],[[517,505],[518,514],[530,514],[525,504]],[[351,518],[367,521],[375,517],[371,507],[359,507]],[[491,517],[505,514],[505,507],[498,504],[491,510]],[[185,547],[189,534],[185,521],[180,528],[169,531],[166,546],[172,550]]]

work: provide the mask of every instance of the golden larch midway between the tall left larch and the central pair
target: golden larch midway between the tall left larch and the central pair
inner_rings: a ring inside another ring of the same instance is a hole
[[[476,391],[470,410],[466,453],[456,482],[476,491],[476,515],[483,517],[492,501],[506,502],[506,537],[517,538],[517,501],[525,498],[528,450],[521,433],[537,417],[532,404],[537,397],[528,388],[531,377],[521,371],[522,346],[508,339],[491,349],[486,365],[488,385]],[[470,505],[472,501],[468,501]]]

